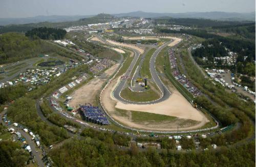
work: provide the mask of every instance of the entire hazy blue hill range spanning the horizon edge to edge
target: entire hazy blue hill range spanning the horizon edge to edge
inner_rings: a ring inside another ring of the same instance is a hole
[[[25,18],[0,18],[0,25],[9,24],[30,24],[30,23],[59,23],[59,22],[70,22],[78,20],[87,20],[87,18],[98,19],[99,17],[106,20],[115,17],[174,17],[174,18],[205,18],[214,20],[225,20],[225,21],[255,21],[255,12],[250,13],[228,13],[228,12],[188,12],[188,13],[153,13],[153,12],[130,12],[130,13],[118,13],[118,14],[99,14],[99,15],[74,15],[74,16],[35,16]]]

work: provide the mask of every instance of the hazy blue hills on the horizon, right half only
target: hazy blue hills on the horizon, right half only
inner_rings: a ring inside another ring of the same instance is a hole
[[[174,17],[174,18],[205,18],[214,20],[226,20],[226,21],[255,21],[255,12],[250,13],[228,13],[228,12],[188,12],[188,13],[152,13],[152,12],[130,12],[113,14],[116,17]]]

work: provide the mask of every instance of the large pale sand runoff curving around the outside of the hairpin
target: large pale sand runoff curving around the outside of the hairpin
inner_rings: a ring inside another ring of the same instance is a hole
[[[105,89],[101,96],[101,101],[111,117],[123,125],[144,130],[173,131],[177,130],[177,126],[179,126],[180,130],[198,129],[209,122],[204,114],[191,106],[176,89],[169,88],[172,91],[172,95],[167,100],[157,104],[137,105],[119,102],[112,95],[119,79],[120,77],[113,80],[109,87]],[[128,116],[121,116],[116,108],[126,110]],[[132,119],[133,111],[173,116],[177,117],[178,120],[159,123],[147,123],[147,120],[134,122]],[[197,123],[191,124],[189,120],[197,121]]]

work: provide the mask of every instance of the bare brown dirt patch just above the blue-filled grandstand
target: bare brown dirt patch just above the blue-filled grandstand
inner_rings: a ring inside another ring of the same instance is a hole
[[[69,105],[73,108],[78,108],[79,104],[94,103],[96,94],[99,93],[107,78],[117,70],[118,66],[119,64],[115,64],[102,74],[103,77],[98,76],[89,81],[86,85],[75,90],[71,94],[73,98],[70,100]]]

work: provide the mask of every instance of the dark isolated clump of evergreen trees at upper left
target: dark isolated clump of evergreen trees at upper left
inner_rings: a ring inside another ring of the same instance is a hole
[[[35,38],[35,36],[41,39],[63,39],[66,36],[67,32],[63,29],[55,29],[48,27],[38,27],[32,30],[29,30],[25,35],[27,37]]]

